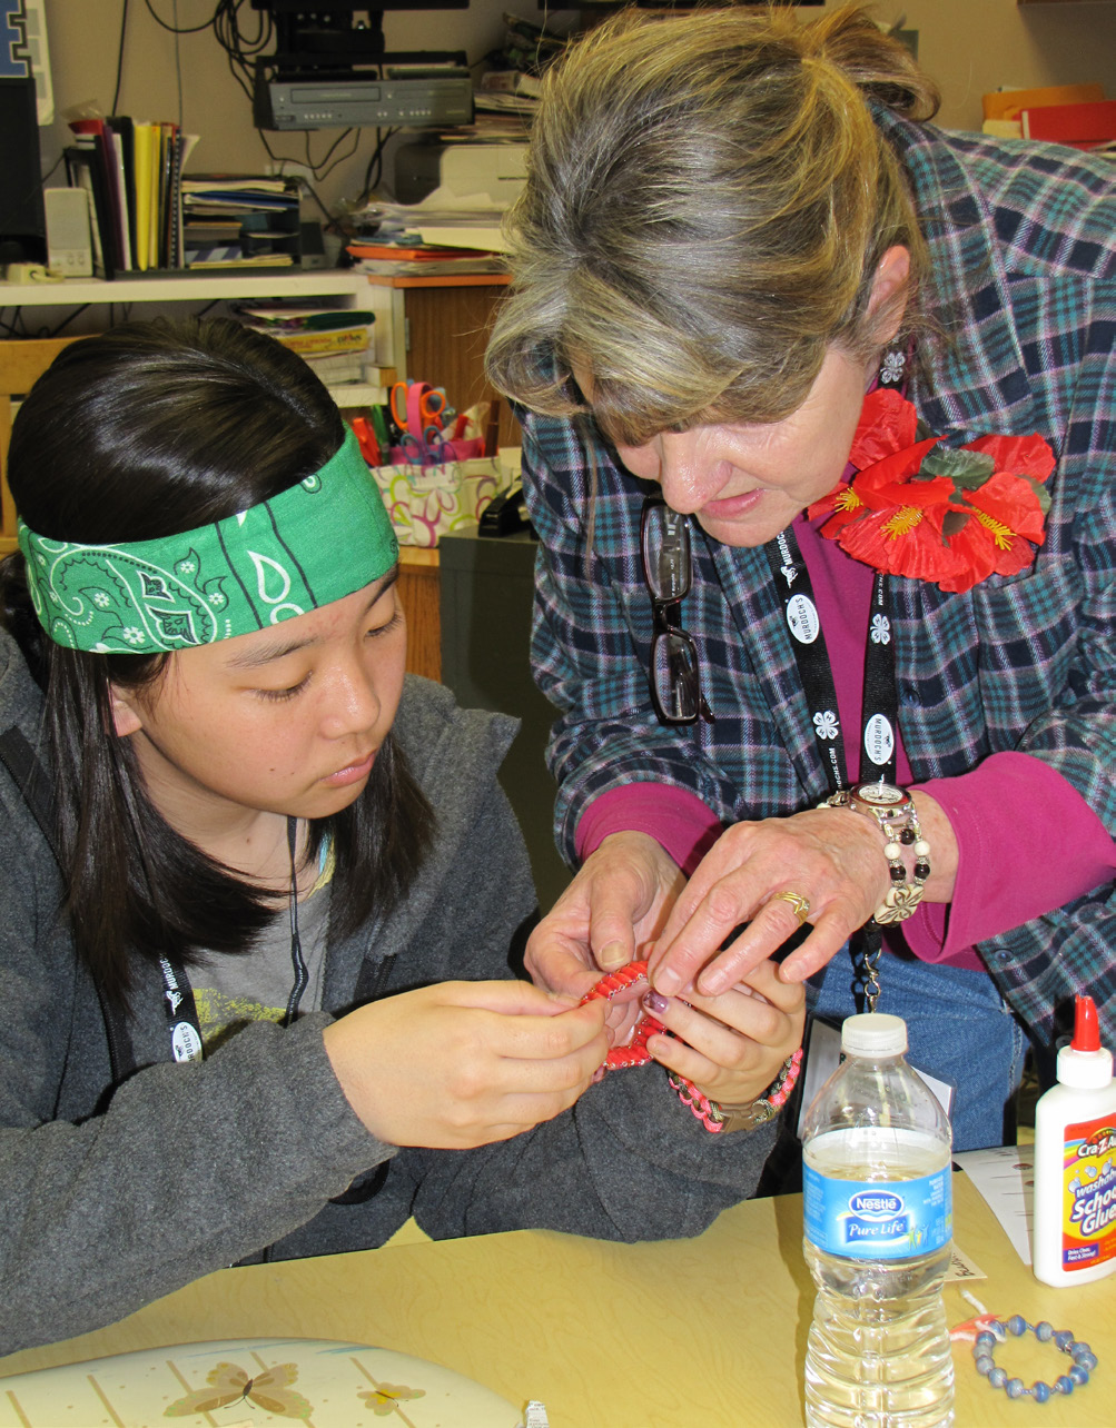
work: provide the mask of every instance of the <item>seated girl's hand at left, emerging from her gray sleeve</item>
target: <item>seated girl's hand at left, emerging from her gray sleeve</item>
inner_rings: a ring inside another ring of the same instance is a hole
[[[529,982],[440,982],[334,1021],[326,1052],[349,1104],[390,1145],[467,1150],[567,1110],[609,1050],[600,1002]]]

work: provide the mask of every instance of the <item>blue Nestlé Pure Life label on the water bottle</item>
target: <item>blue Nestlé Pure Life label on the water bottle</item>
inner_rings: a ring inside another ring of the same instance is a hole
[[[852,1259],[909,1259],[942,1250],[953,1235],[947,1148],[916,1131],[880,1130],[890,1142],[889,1178],[860,1180],[865,1155],[857,1154],[857,1134],[830,1131],[807,1148],[806,1238],[824,1254]],[[880,1161],[879,1150],[870,1161]]]

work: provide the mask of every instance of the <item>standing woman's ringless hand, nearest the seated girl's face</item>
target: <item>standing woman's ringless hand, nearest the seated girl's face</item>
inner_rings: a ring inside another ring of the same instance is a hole
[[[526,952],[532,980],[547,991],[584,997],[603,972],[647,955],[684,884],[654,838],[612,834],[532,932]],[[637,1008],[622,1005],[624,1000],[619,997],[609,1012],[617,1037],[636,1020]]]

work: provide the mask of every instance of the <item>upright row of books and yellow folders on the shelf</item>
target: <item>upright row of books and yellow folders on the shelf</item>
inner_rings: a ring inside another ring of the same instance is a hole
[[[70,129],[66,171],[71,187],[89,193],[97,271],[181,268],[181,171],[197,137],[127,116],[79,119]]]

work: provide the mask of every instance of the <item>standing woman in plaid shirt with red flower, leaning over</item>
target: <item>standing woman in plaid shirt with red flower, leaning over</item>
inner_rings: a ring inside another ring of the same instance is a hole
[[[533,975],[650,954],[710,1101],[757,964],[879,998],[966,1148],[1076,992],[1116,1040],[1116,198],[936,107],[855,6],[606,23],[546,80],[489,373],[579,867]]]

